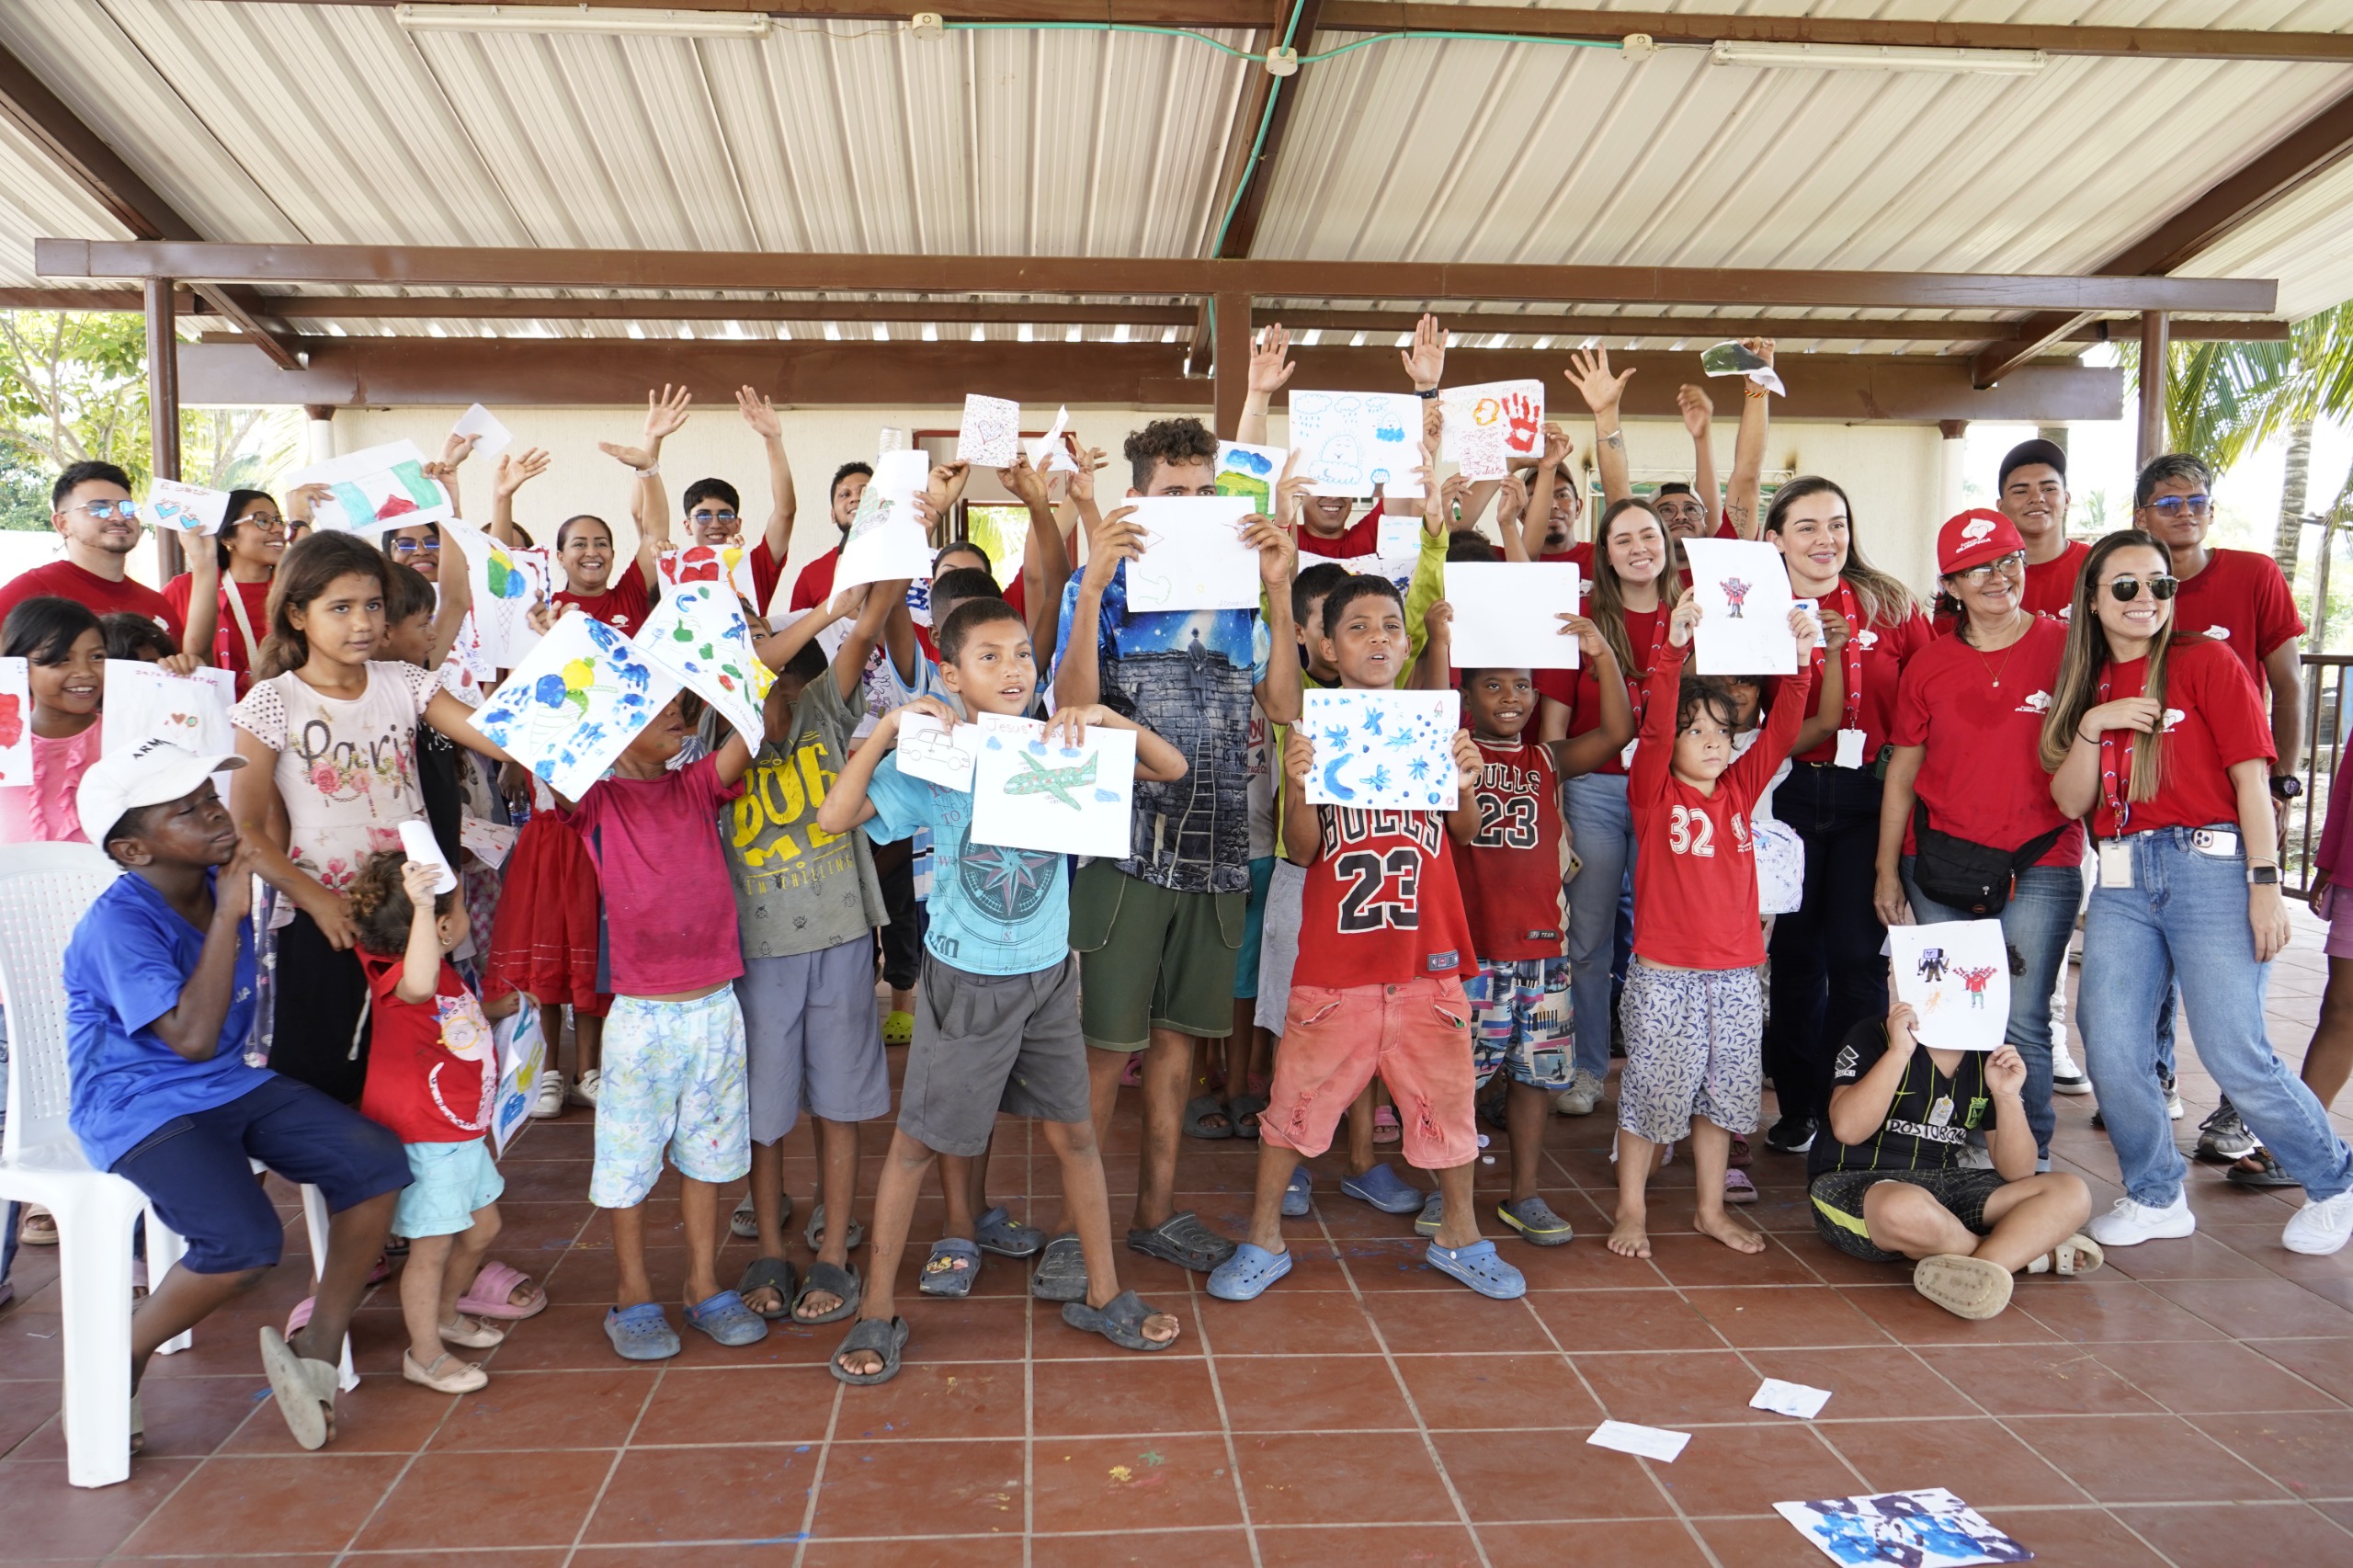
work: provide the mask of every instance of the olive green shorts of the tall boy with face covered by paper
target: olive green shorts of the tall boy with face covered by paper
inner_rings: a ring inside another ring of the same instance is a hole
[[[1096,859],[1071,881],[1078,1026],[1096,1050],[1144,1050],[1153,1029],[1233,1034],[1247,892],[1169,892]]]

